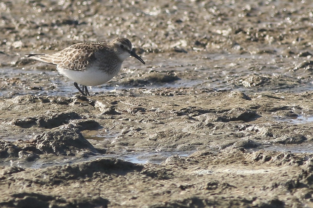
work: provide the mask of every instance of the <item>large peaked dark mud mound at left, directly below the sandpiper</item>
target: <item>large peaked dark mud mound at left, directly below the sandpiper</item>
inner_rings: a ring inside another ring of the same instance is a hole
[[[100,150],[103,153],[103,150]],[[64,125],[34,136],[28,141],[1,141],[1,158],[34,161],[41,155],[80,155],[99,153],[74,125]]]

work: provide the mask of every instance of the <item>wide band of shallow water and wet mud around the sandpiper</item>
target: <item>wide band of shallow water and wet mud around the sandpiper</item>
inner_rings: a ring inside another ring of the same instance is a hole
[[[186,57],[175,56],[164,62],[164,57],[148,54],[143,57],[146,65],[140,65],[133,58],[125,61],[119,74],[104,85],[93,86],[89,91],[100,95],[115,89],[130,88],[199,88],[215,91],[239,90],[248,94],[262,91],[300,93],[313,89],[310,71],[294,70],[303,60],[297,58],[299,64],[291,66],[288,58],[275,54],[208,54],[205,51],[191,52]],[[264,63],[264,60],[266,62]],[[33,62],[33,67],[40,65],[41,70],[23,68],[0,69],[2,89],[1,96],[12,97],[22,94],[73,96],[77,94],[73,82],[59,75],[52,66]],[[151,71],[164,73],[172,71],[179,78],[170,82],[145,80]],[[140,86],[127,80],[141,80]],[[143,84],[142,81],[145,81]],[[123,83],[121,85],[121,83]]]

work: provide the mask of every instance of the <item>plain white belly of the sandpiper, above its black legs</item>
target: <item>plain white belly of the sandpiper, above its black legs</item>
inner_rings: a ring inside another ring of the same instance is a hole
[[[60,74],[66,76],[70,80],[77,82],[80,85],[86,86],[96,86],[102,85],[107,81],[111,80],[119,70],[116,70],[115,73],[107,73],[104,70],[98,69],[88,69],[88,70],[64,70],[57,69]]]

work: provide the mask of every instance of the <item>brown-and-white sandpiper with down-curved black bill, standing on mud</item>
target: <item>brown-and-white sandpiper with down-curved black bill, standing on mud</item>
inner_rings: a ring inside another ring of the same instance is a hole
[[[115,38],[110,42],[77,43],[53,54],[26,56],[56,65],[59,73],[73,80],[74,86],[84,96],[90,95],[87,86],[102,85],[112,79],[129,56],[145,64],[126,38]],[[78,84],[82,85],[82,89]]]

